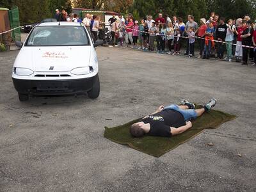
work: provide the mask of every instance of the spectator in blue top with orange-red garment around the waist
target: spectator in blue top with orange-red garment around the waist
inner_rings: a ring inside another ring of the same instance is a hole
[[[212,22],[209,22],[209,25],[205,31],[205,45],[204,45],[204,59],[209,59],[211,55],[211,48],[214,47],[214,27]]]

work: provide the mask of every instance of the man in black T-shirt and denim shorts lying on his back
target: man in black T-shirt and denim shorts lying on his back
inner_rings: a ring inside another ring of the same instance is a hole
[[[205,111],[209,111],[216,102],[216,99],[211,99],[201,109],[195,109],[195,105],[188,100],[182,100],[180,106],[175,104],[166,108],[159,106],[154,113],[143,117],[141,122],[132,124],[130,132],[136,138],[145,134],[164,137],[180,134],[192,127],[191,120],[201,116]]]

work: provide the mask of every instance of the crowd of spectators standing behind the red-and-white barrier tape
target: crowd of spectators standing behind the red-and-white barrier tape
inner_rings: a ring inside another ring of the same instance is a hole
[[[172,55],[180,54],[183,47],[186,49],[184,54],[193,57],[197,43],[198,58],[234,59],[242,65],[248,65],[248,60],[251,60],[251,65],[256,66],[256,48],[253,48],[256,47],[256,20],[250,19],[249,15],[243,19],[225,19],[212,12],[209,18],[200,19],[198,24],[193,15],[188,15],[188,20],[184,22],[180,17],[173,16],[171,19],[167,14],[159,13],[156,19],[147,15],[139,22],[129,13],[125,18],[113,15],[104,23],[97,15],[87,13],[82,20],[76,14],[68,15],[65,10],[61,13],[56,10],[56,19],[83,22],[94,41],[99,38],[104,24],[108,24],[111,30],[109,47],[125,46]]]

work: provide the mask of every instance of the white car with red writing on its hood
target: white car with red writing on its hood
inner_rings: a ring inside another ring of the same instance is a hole
[[[88,93],[99,97],[100,82],[93,40],[77,22],[45,22],[31,30],[13,64],[12,79],[19,100],[29,95]]]

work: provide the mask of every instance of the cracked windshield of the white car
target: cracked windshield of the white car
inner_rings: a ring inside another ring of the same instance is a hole
[[[90,45],[83,26],[38,26],[33,29],[25,46]]]

